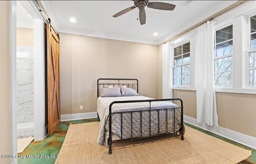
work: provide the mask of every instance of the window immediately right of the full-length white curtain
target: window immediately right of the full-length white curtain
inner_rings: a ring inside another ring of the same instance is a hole
[[[214,44],[215,86],[232,86],[233,25],[217,30]]]

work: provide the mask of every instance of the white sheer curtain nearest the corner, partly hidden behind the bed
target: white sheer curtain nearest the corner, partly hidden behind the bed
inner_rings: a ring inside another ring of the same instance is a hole
[[[162,98],[172,98],[172,64],[173,64],[173,44],[167,42],[163,44],[163,91]]]

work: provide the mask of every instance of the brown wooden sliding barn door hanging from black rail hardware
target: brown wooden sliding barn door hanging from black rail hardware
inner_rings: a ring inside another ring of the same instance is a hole
[[[48,96],[48,136],[60,123],[60,43],[57,34],[47,23],[47,96]]]

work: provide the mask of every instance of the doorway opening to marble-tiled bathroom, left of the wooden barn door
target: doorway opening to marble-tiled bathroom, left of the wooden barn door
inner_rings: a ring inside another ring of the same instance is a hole
[[[12,27],[12,33],[16,34],[16,46],[12,46],[16,47],[16,63],[12,63],[13,72],[16,72],[16,78],[12,79],[15,81],[13,88],[16,88],[16,92],[12,92],[16,93],[16,99],[12,100],[16,104],[12,110],[16,113],[16,118],[12,118],[13,123],[16,120],[16,138],[44,140],[47,134],[44,61],[46,20],[32,1],[18,0],[12,6],[16,6],[15,32]]]

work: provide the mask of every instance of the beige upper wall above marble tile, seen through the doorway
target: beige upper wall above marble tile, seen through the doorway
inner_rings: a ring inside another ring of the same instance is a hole
[[[34,30],[32,28],[17,27],[17,46],[30,46],[34,45]]]

